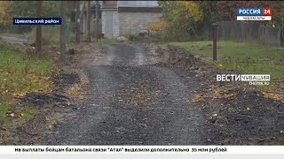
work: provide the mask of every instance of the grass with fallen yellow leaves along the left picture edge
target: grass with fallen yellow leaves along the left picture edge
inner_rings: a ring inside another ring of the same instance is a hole
[[[21,123],[33,117],[37,110],[28,105],[17,112],[8,110],[15,97],[49,87],[47,74],[51,71],[51,60],[29,57],[13,44],[0,42],[0,48],[0,125],[8,125],[9,118]]]

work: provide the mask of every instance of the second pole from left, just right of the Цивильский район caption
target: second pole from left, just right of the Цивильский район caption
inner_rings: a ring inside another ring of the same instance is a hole
[[[67,36],[67,25],[66,25],[66,1],[60,2],[61,10],[61,27],[60,27],[60,61],[61,63],[65,62],[65,53],[66,53],[66,36]]]

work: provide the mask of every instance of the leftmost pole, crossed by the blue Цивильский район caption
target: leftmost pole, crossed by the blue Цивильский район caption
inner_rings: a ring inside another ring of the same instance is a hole
[[[36,1],[36,17],[41,18],[43,14],[43,2],[42,1]],[[36,55],[37,57],[42,56],[42,48],[43,48],[43,32],[42,32],[42,26],[37,25],[36,26]]]

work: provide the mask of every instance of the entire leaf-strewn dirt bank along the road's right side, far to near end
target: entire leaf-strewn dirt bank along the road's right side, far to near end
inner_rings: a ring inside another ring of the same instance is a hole
[[[209,143],[225,145],[283,145],[284,101],[270,98],[244,82],[217,82],[217,74],[241,73],[202,63],[185,49],[148,45],[157,64],[197,72],[198,89],[189,98],[207,114]],[[283,90],[283,89],[282,89]]]

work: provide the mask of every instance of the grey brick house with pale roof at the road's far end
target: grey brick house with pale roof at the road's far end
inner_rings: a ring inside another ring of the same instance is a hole
[[[147,22],[162,17],[158,1],[104,1],[101,6],[102,34],[115,38],[138,34]]]

